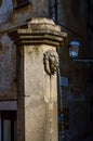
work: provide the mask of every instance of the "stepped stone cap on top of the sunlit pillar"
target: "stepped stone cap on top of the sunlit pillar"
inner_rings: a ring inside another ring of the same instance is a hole
[[[61,31],[61,27],[52,20],[37,17],[28,22],[28,25],[12,31],[9,36],[15,40],[15,44],[51,44],[58,47],[67,37]]]

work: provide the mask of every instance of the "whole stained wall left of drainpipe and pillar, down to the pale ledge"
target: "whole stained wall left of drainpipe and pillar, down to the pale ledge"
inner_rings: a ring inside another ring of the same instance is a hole
[[[38,4],[37,4],[38,3]],[[16,47],[10,30],[26,24],[32,16],[48,16],[48,1],[29,1],[23,7],[16,0],[0,2],[0,99],[16,99]]]

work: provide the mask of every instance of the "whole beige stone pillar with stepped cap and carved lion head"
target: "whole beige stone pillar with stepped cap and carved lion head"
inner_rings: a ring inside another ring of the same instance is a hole
[[[36,17],[11,37],[17,47],[17,141],[57,141],[56,48],[66,34]]]

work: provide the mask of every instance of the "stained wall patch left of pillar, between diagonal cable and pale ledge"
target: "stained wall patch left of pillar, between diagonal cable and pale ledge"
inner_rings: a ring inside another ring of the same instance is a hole
[[[0,38],[0,95],[10,99],[16,95],[16,48],[13,41],[3,34]]]

